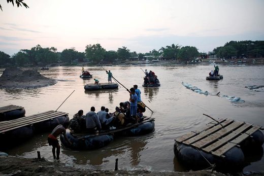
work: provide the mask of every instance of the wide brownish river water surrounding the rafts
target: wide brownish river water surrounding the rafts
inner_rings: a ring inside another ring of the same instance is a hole
[[[114,169],[118,158],[120,169],[147,169],[151,171],[184,171],[184,167],[174,156],[174,139],[190,131],[202,128],[212,120],[230,118],[264,126],[264,89],[250,90],[245,86],[264,85],[263,65],[220,65],[223,80],[208,81],[213,65],[133,65],[106,66],[113,77],[126,88],[134,84],[141,90],[141,99],[154,111],[147,109],[146,116],[155,118],[155,131],[139,137],[119,137],[110,145],[93,151],[61,150],[60,162],[88,169]],[[153,71],[161,83],[160,87],[142,87],[142,69]],[[85,67],[101,83],[107,82],[107,74],[102,67]],[[4,69],[0,69],[0,75]],[[79,110],[87,113],[94,106],[96,112],[104,105],[110,112],[115,111],[119,102],[129,99],[123,87],[118,90],[86,92],[84,85],[93,79],[79,78],[80,66],[50,67],[39,71],[42,75],[58,81],[53,86],[36,89],[0,89],[0,107],[14,104],[25,108],[26,116],[56,110],[74,90],[75,92],[61,105],[58,111],[69,113],[70,119]],[[196,86],[209,95],[187,89],[182,82]],[[213,96],[217,94],[220,96]],[[232,102],[227,96],[240,97],[243,101]],[[47,133],[41,133],[22,145],[9,149],[10,155],[26,158],[41,156],[52,161],[51,146],[47,144]],[[260,158],[261,157],[261,158]],[[244,171],[264,171],[264,158],[252,159]]]

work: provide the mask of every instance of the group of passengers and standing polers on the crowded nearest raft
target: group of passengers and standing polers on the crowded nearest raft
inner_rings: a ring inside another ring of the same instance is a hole
[[[69,128],[74,132],[95,133],[143,121],[145,106],[141,102],[141,91],[137,85],[126,90],[129,92],[129,101],[120,102],[115,112],[109,113],[108,108],[104,106],[97,113],[95,108],[91,107],[86,115],[83,115],[83,110],[80,110],[70,120]]]

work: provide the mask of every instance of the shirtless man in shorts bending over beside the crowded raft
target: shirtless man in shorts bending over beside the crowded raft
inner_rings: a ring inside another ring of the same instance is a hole
[[[59,159],[59,153],[60,153],[60,145],[59,145],[59,141],[57,139],[57,137],[60,134],[63,134],[64,139],[70,144],[72,145],[72,143],[70,142],[70,140],[68,139],[68,137],[66,136],[66,129],[68,128],[69,122],[66,122],[62,125],[58,125],[56,126],[53,131],[49,134],[48,136],[48,143],[50,146],[52,146],[52,154],[53,154],[53,158],[54,159]],[[56,154],[55,154],[55,149],[57,148]]]

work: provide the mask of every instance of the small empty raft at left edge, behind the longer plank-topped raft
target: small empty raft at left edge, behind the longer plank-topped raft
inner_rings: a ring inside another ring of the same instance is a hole
[[[17,105],[6,105],[0,108],[0,122],[25,117],[25,109]]]

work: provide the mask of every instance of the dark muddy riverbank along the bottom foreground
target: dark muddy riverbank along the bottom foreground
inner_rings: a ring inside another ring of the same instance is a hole
[[[222,176],[223,173],[211,170],[175,172],[175,171],[148,171],[148,170],[88,170],[80,169],[71,166],[65,166],[59,161],[46,161],[41,159],[26,159],[22,157],[8,156],[0,157],[0,175],[149,175],[149,176],[163,176],[163,175],[215,175]]]

